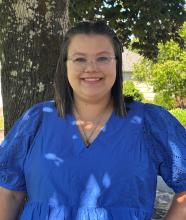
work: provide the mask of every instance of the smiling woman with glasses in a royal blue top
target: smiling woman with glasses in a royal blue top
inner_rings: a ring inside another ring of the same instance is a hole
[[[122,96],[122,46],[102,22],[62,43],[55,101],[29,109],[0,148],[0,220],[149,220],[161,175],[186,219],[186,133],[158,106]]]

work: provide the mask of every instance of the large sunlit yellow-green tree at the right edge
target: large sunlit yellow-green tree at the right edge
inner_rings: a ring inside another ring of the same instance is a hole
[[[180,34],[186,39],[186,23]],[[180,97],[183,100],[186,97],[186,50],[173,40],[159,44],[158,48],[156,62],[144,58],[135,65],[134,79],[148,82],[156,93],[166,94],[166,97]],[[184,107],[182,101],[180,107]]]

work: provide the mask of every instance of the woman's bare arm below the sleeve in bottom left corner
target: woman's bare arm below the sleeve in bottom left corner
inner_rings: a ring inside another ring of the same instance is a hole
[[[0,220],[16,220],[23,204],[24,194],[0,189]]]

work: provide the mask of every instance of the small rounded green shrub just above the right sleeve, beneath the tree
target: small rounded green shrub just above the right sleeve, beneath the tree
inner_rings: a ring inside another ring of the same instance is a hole
[[[154,104],[161,105],[167,110],[173,109],[176,106],[175,100],[170,97],[167,93],[157,93],[154,97]]]

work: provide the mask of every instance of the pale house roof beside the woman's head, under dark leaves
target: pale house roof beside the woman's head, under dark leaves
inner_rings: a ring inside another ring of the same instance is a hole
[[[142,56],[139,54],[124,48],[124,52],[122,53],[123,71],[132,72],[134,63],[138,62],[141,58]]]

